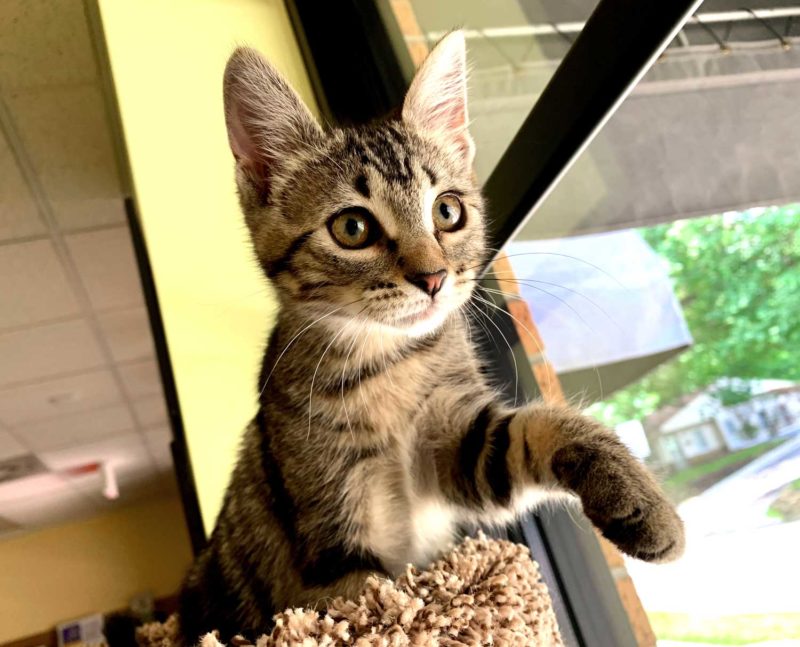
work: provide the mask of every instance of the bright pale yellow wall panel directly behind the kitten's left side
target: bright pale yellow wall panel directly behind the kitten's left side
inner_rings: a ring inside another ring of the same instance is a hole
[[[236,201],[222,73],[257,47],[312,105],[280,0],[99,0],[124,137],[207,531],[222,501],[274,302]]]

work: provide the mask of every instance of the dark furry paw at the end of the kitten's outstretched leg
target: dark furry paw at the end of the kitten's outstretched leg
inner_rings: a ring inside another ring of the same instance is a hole
[[[552,471],[586,516],[631,557],[668,562],[685,544],[683,521],[655,480],[615,437],[576,440],[553,454]]]

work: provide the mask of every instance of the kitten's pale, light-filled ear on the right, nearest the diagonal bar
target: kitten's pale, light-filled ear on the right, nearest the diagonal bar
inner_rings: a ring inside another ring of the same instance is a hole
[[[463,32],[442,38],[411,83],[403,102],[403,120],[454,147],[471,166],[475,144],[467,130],[466,59]]]

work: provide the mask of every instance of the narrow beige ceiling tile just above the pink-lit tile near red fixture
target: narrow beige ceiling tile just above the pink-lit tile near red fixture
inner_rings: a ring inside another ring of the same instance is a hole
[[[14,429],[15,435],[35,452],[59,449],[101,440],[133,431],[136,424],[122,404],[82,413],[28,422]]]

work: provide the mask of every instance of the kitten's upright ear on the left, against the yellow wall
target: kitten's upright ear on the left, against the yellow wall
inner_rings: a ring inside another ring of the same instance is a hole
[[[237,48],[225,67],[223,98],[236,163],[266,197],[284,160],[318,141],[322,129],[280,73],[248,47]]]

